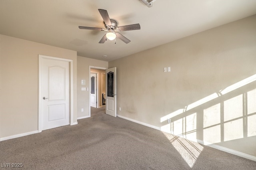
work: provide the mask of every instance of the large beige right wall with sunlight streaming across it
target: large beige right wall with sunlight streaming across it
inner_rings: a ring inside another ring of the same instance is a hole
[[[255,30],[256,15],[109,62],[117,114],[256,156],[256,82],[240,82],[256,75]]]

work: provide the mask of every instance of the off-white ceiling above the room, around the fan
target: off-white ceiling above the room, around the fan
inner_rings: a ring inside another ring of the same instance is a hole
[[[100,44],[106,32],[78,28],[104,28],[98,9],[141,30],[120,32],[128,44]],[[256,0],[156,0],[151,8],[139,0],[0,0],[0,34],[111,61],[254,14]]]

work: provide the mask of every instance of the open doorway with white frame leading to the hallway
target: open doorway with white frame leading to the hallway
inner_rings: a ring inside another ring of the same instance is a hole
[[[105,107],[106,96],[106,74],[104,67],[89,66],[89,117],[91,117],[91,109]],[[93,75],[93,76],[92,76]],[[93,81],[92,81],[93,80]],[[92,94],[94,93],[94,94]],[[95,101],[93,101],[95,99]],[[91,108],[92,107],[92,108]]]

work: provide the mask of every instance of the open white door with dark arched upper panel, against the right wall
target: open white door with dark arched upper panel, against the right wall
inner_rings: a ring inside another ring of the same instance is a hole
[[[116,117],[116,67],[106,69],[106,114]]]

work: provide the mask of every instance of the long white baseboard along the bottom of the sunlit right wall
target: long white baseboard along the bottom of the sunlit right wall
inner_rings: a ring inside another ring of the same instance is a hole
[[[172,134],[170,131],[164,131],[164,130],[161,130],[160,127],[156,127],[156,126],[153,126],[153,125],[149,125],[147,123],[143,123],[143,122],[140,122],[140,121],[136,121],[134,119],[130,119],[130,118],[127,118],[127,117],[123,117],[123,116],[120,116],[120,115],[117,115],[118,117],[122,118],[122,119],[126,119],[128,121],[132,121],[132,122],[135,122],[135,123],[138,123],[140,125],[144,125],[144,126],[147,126],[147,127],[151,127],[151,128],[154,128],[156,130],[160,130],[162,132],[166,132],[166,133],[170,133]],[[180,136],[182,138],[182,136]],[[188,139],[188,138],[187,138]],[[206,145],[206,146],[209,146],[209,147],[212,147],[212,148],[215,148],[215,149],[218,149],[218,150],[221,150],[221,151],[224,151],[224,152],[228,152],[230,154],[234,154],[236,156],[240,156],[242,158],[246,158],[246,159],[250,159],[250,160],[253,160],[253,161],[256,161],[256,156],[251,156],[251,155],[248,155],[248,154],[245,154],[245,153],[242,153],[242,152],[238,152],[236,150],[232,150],[232,149],[229,149],[229,148],[225,148],[223,146],[219,146],[219,145],[216,145],[216,144],[212,144],[212,143],[209,143],[209,142],[204,142],[203,140],[198,140],[198,139],[188,139],[188,140],[191,140],[191,141],[194,141],[194,142],[198,142],[200,144],[203,144],[203,145]]]

